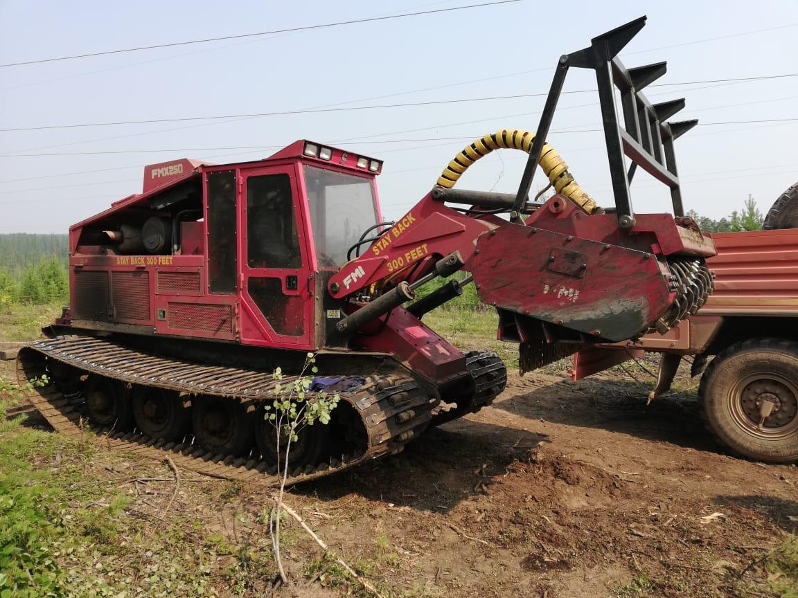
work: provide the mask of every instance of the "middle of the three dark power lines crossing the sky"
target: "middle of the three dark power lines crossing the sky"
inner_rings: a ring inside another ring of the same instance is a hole
[[[707,79],[703,81],[681,81],[678,83],[662,83],[650,85],[650,87],[672,87],[676,85],[698,85],[707,83],[737,83],[741,81],[765,81],[769,79],[777,79],[784,77],[798,77],[798,73],[785,73],[780,75],[763,75],[759,77],[737,77],[734,79]],[[591,93],[597,91],[596,89],[575,89],[571,91],[561,92],[565,94],[576,93]],[[214,116],[182,116],[178,118],[160,118],[160,119],[147,119],[147,120],[119,120],[115,122],[105,123],[79,123],[79,124],[52,124],[39,127],[21,127],[21,128],[0,128],[0,132],[21,132],[21,131],[41,131],[45,129],[62,129],[62,128],[86,128],[86,127],[113,127],[129,124],[157,124],[157,123],[176,123],[188,122],[196,120],[220,120],[220,119],[237,119],[237,118],[261,118],[263,116],[286,116],[291,114],[313,114],[318,112],[351,112],[356,110],[377,110],[385,108],[409,108],[413,106],[431,106],[438,104],[462,104],[465,102],[483,102],[494,100],[518,100],[527,97],[547,96],[548,92],[536,93],[520,93],[512,96],[485,96],[485,97],[469,97],[458,98],[452,100],[429,100],[425,102],[405,102],[400,104],[375,104],[372,106],[349,106],[346,108],[303,108],[300,110],[283,110],[279,112],[254,112],[249,114],[222,114]]]

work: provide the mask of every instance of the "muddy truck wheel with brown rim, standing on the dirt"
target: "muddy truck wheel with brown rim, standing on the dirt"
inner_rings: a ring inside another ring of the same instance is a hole
[[[709,364],[698,395],[709,431],[734,453],[774,463],[798,460],[798,343],[759,338],[733,344]],[[772,407],[764,421],[763,403],[764,411]]]

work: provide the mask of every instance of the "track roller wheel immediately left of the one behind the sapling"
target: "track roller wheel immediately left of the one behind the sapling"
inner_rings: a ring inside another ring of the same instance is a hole
[[[199,396],[192,401],[192,428],[197,442],[214,453],[248,453],[255,436],[255,408],[238,399]]]

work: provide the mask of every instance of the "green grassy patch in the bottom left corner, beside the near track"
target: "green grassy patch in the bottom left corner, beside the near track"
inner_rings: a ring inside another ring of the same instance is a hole
[[[255,553],[207,542],[200,531],[182,541],[157,511],[132,506],[115,479],[93,473],[97,456],[89,439],[0,419],[0,598],[218,596],[223,573],[214,565],[228,554],[261,579]]]

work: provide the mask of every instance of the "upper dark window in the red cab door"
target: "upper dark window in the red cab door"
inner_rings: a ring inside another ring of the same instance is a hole
[[[247,179],[247,264],[250,268],[302,266],[288,175]]]

